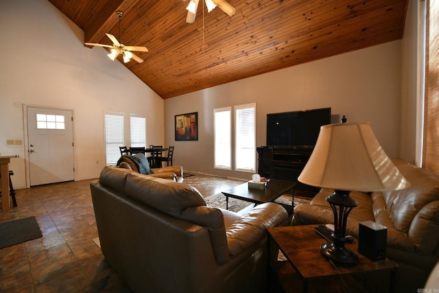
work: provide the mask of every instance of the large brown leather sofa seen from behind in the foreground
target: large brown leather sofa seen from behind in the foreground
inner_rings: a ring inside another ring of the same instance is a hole
[[[184,183],[105,167],[91,183],[102,253],[134,292],[264,292],[273,202],[244,215],[207,207]]]

